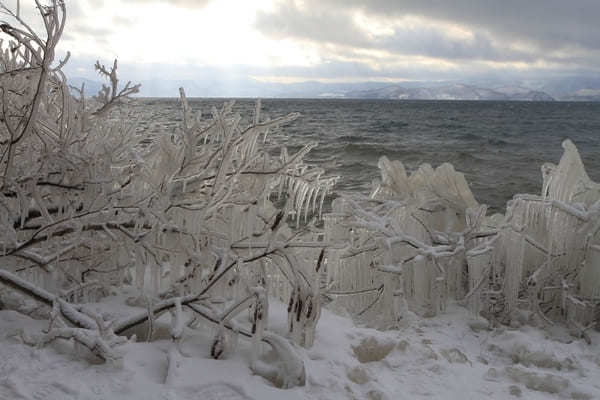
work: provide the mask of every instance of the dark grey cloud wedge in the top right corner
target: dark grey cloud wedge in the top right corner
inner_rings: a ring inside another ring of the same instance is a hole
[[[347,0],[343,4],[378,15],[419,15],[454,22],[548,48],[564,45],[600,48],[597,0],[373,0],[368,6]]]

